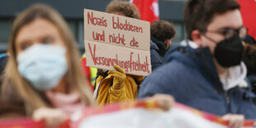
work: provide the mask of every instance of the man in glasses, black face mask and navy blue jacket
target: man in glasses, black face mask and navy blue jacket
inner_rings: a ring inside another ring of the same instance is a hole
[[[255,98],[242,61],[243,26],[235,0],[188,0],[184,8],[187,40],[165,55],[165,64],[145,78],[139,98],[155,93],[223,116],[230,127],[256,119]]]

